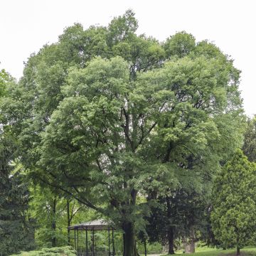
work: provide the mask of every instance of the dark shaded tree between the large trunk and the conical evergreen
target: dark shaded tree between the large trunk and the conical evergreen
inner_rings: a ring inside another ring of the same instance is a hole
[[[193,181],[193,177],[189,179]],[[156,205],[151,207],[151,215],[146,218],[149,241],[168,244],[169,254],[174,254],[181,242],[186,252],[194,252],[196,241],[208,232],[211,186],[209,182],[204,186],[200,183],[196,186],[196,183],[191,182],[190,187],[183,183],[165,196],[159,196]]]

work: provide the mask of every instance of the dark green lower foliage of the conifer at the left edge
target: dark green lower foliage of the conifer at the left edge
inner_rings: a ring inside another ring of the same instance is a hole
[[[1,146],[3,139],[0,139]],[[0,154],[2,155],[0,150]],[[0,164],[2,164],[0,158]],[[34,246],[34,220],[28,215],[28,184],[16,172],[9,176],[0,167],[0,253],[9,255]],[[4,170],[5,171],[5,170]]]

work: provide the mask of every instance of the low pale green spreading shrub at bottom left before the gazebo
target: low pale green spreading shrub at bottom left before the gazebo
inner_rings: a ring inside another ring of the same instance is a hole
[[[53,248],[42,248],[41,250],[31,251],[31,252],[21,252],[17,255],[11,256],[75,256],[76,253],[72,247],[53,247]]]

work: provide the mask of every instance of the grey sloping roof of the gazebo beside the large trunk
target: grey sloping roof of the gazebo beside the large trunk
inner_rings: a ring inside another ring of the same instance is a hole
[[[112,226],[106,220],[92,220],[68,227],[69,230],[108,230],[109,228]]]

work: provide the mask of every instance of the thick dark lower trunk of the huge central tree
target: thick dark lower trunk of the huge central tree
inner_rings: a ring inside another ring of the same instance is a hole
[[[138,256],[133,223],[124,223],[124,256]]]

